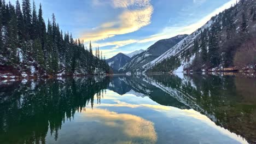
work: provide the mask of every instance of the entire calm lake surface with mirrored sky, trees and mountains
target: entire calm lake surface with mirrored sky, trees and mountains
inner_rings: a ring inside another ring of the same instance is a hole
[[[255,143],[256,79],[80,77],[0,85],[0,143]]]

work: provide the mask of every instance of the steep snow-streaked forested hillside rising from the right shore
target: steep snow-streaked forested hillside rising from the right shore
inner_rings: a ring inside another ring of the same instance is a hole
[[[203,27],[144,71],[256,70],[256,1],[241,0],[212,17]]]

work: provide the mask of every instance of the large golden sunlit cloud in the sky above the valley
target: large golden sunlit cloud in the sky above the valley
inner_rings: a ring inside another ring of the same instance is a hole
[[[98,3],[96,0],[95,3]],[[103,23],[101,26],[87,31],[82,34],[82,38],[86,41],[98,41],[115,35],[127,34],[138,31],[138,29],[150,24],[153,13],[153,6],[150,0],[112,0],[113,8],[122,9],[116,21]]]

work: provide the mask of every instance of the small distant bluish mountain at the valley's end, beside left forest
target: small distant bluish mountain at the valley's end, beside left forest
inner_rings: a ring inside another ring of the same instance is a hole
[[[118,53],[114,57],[107,59],[106,63],[114,70],[115,73],[118,73],[118,70],[130,61],[131,58],[129,56],[126,56],[124,53]]]

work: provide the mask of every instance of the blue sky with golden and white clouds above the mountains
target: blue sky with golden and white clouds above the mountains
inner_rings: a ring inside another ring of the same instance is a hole
[[[11,0],[15,1],[15,0]],[[91,40],[107,58],[190,34],[236,0],[35,0],[45,21],[55,13],[63,31]]]

